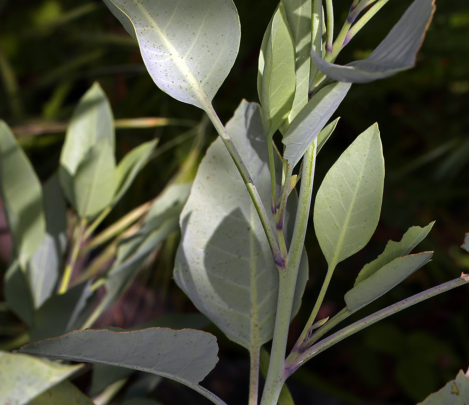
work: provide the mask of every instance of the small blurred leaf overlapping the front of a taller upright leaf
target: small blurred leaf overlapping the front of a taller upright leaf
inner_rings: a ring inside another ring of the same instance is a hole
[[[74,206],[80,217],[93,217],[109,206],[116,190],[116,158],[107,140],[94,145],[74,177]]]

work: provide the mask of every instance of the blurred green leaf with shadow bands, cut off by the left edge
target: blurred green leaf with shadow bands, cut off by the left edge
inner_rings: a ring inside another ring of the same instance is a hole
[[[0,120],[0,195],[16,256],[24,269],[46,232],[41,182],[5,121]]]

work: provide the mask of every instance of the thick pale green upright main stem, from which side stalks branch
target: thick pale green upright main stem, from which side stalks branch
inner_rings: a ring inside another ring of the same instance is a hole
[[[286,340],[311,206],[315,160],[316,140],[308,148],[303,158],[303,173],[292,242],[286,259],[286,268],[279,271],[277,315],[275,317],[269,371],[262,393],[261,405],[275,405],[277,403],[286,379],[284,374]]]

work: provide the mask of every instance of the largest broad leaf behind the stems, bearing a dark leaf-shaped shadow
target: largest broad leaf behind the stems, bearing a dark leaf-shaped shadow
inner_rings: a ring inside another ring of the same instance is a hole
[[[259,105],[242,101],[226,128],[264,205],[269,206],[269,157]],[[276,167],[281,168],[278,155]],[[288,203],[286,240],[293,233],[293,221],[288,219],[296,210],[295,193]],[[277,309],[278,270],[256,209],[220,139],[202,159],[181,214],[181,228],[174,267],[178,286],[231,340],[248,350],[269,341]],[[293,313],[299,308],[307,272],[303,253]]]

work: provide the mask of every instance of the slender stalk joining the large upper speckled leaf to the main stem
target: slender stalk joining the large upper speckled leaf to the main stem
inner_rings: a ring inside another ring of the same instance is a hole
[[[265,210],[264,204],[262,203],[261,196],[259,195],[256,185],[254,184],[254,181],[249,175],[249,172],[246,166],[244,165],[241,156],[236,150],[233,141],[226,132],[222,121],[220,120],[219,116],[217,115],[211,104],[206,107],[205,112],[212,121],[212,124],[220,135],[220,138],[222,138],[222,141],[225,144],[228,153],[233,159],[233,162],[236,165],[236,168],[238,169],[238,172],[241,175],[244,184],[246,185],[247,192],[251,197],[252,203],[256,207],[256,211],[258,213],[259,219],[261,220],[262,227],[264,228],[264,232],[266,234],[267,241],[269,242],[270,250],[272,251],[272,257],[274,258],[275,264],[277,265],[277,267],[284,267],[284,260],[282,259],[277,239],[275,238],[272,225],[270,224],[269,217],[267,216],[267,212]]]

